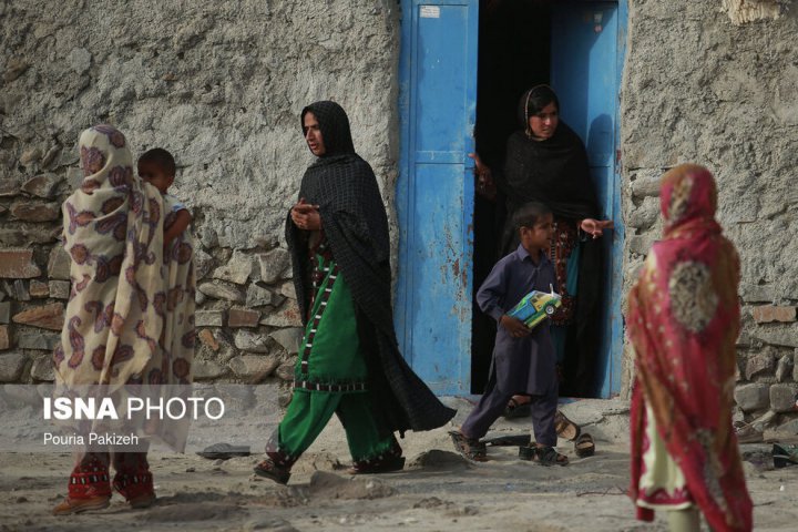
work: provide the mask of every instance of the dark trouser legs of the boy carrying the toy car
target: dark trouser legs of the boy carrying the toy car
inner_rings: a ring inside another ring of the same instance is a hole
[[[491,424],[504,413],[511,397],[513,393],[499,390],[495,381],[490,382],[477,407],[460,427],[460,431],[467,438],[479,439],[485,436]],[[545,396],[531,396],[530,399],[535,441],[546,447],[556,446],[554,415],[557,407],[557,387],[552,386]]]

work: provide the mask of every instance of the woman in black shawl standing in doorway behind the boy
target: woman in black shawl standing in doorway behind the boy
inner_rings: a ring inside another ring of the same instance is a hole
[[[591,396],[595,380],[595,346],[600,341],[603,254],[597,238],[612,221],[600,216],[587,153],[580,137],[560,120],[560,102],[549,85],[536,85],[519,101],[521,129],[507,142],[504,167],[491,175],[473,155],[477,190],[505,202],[507,223],[499,255],[518,246],[513,214],[535,201],[554,213],[550,258],[556,270],[562,308],[552,317],[552,339],[563,370],[561,395]],[[522,398],[514,398],[523,403]]]

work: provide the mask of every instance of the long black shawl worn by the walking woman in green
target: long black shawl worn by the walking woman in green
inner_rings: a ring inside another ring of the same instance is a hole
[[[375,417],[383,433],[430,430],[454,416],[413,372],[399,352],[391,310],[388,217],[371,166],[355,153],[349,119],[335,102],[316,102],[325,153],[305,172],[299,197],[319,206],[332,256],[355,300],[360,347],[369,368]],[[294,285],[303,320],[311,296],[308,232],[286,219]]]

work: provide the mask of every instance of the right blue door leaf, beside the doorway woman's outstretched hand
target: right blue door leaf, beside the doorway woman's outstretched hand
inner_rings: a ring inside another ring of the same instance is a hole
[[[551,84],[560,114],[587,147],[602,214],[615,222],[604,237],[604,334],[597,364],[601,397],[621,391],[623,358],[623,238],[621,219],[618,95],[626,2],[555,2],[552,9]]]

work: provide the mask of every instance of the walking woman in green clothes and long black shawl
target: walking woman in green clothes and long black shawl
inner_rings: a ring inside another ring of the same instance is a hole
[[[311,153],[286,219],[306,325],[294,397],[255,472],[286,483],[299,456],[337,415],[354,473],[401,469],[393,432],[441,427],[454,415],[399,352],[391,313],[388,218],[369,164],[355,153],[335,102],[301,113]]]

